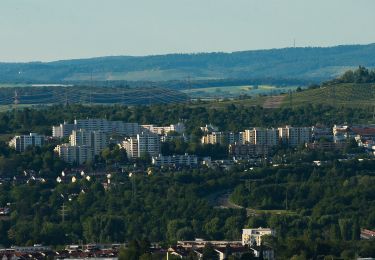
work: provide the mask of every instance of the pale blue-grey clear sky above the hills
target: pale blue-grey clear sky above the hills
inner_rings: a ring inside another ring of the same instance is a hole
[[[0,61],[375,42],[374,0],[1,0]]]

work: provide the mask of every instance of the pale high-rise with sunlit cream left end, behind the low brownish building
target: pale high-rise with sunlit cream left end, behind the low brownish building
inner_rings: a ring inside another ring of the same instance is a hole
[[[243,141],[248,144],[276,146],[279,143],[278,130],[254,127],[245,130]]]

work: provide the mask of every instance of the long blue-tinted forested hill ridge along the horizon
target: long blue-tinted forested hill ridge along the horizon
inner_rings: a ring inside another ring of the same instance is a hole
[[[114,56],[55,62],[0,63],[0,82],[278,79],[321,82],[349,68],[375,67],[375,44],[233,53]]]

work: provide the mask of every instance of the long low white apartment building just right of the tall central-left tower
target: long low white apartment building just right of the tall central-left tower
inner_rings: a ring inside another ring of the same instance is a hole
[[[159,154],[152,157],[152,164],[155,166],[197,166],[198,157],[196,155],[171,155],[164,156]]]

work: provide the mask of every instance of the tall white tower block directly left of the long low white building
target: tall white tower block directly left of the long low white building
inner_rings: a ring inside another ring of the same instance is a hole
[[[122,146],[131,159],[139,158],[145,153],[157,156],[160,153],[160,137],[153,133],[141,133],[125,139]]]

